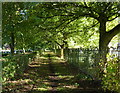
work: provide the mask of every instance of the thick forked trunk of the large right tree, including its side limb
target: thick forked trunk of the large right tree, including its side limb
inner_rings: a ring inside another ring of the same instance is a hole
[[[106,32],[106,22],[103,20],[100,21],[100,28],[99,28],[100,38],[99,38],[99,54],[100,60],[103,65],[100,67],[101,72],[104,73],[107,67],[107,53],[108,53],[108,44],[111,39],[120,32],[120,24],[117,25],[112,30]]]

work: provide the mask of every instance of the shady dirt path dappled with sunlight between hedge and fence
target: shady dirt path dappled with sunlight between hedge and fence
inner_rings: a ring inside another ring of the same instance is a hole
[[[9,81],[3,93],[112,93],[98,82],[79,80],[75,69],[51,53],[45,56],[31,62],[21,79]]]

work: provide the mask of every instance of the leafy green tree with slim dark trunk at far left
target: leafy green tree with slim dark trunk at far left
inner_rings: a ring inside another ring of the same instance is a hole
[[[3,3],[3,44],[10,45],[11,54],[14,54],[14,49],[33,48],[38,38],[34,38],[36,34],[35,24],[28,20],[29,8],[36,3],[18,3],[5,2]],[[33,44],[34,43],[34,44]]]

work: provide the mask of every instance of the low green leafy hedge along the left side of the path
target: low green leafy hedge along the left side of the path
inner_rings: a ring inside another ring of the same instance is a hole
[[[19,76],[23,75],[25,69],[27,69],[28,64],[31,62],[34,56],[35,53],[3,58],[3,81],[5,82],[11,79],[14,80],[15,78],[20,78]]]

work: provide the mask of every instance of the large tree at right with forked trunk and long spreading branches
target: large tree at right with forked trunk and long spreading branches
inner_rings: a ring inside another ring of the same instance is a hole
[[[42,3],[37,8],[44,8],[44,12],[47,12],[47,15],[43,16],[38,14],[37,17],[62,17],[62,22],[55,28],[60,26],[65,27],[70,22],[81,17],[94,18],[99,23],[99,50],[101,58],[106,62],[107,46],[111,39],[120,32],[120,24],[109,31],[106,30],[106,23],[119,16],[117,6],[117,2]]]

